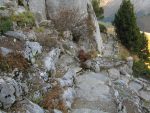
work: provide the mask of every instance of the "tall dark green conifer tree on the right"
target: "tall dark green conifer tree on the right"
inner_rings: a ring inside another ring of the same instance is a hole
[[[136,23],[134,7],[130,0],[123,0],[113,22],[116,33],[122,44],[142,59],[148,57],[148,41]]]

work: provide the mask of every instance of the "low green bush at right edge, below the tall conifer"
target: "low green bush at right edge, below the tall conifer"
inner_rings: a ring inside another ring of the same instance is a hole
[[[150,69],[148,69],[148,66],[145,65],[145,61],[140,60],[138,62],[134,62],[133,74],[135,76],[143,76],[150,78]]]

